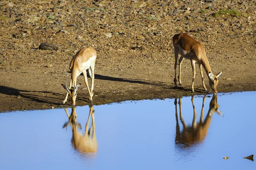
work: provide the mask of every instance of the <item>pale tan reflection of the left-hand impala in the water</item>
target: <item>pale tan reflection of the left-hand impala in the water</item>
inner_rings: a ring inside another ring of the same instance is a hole
[[[85,125],[84,135],[82,135],[78,130],[78,127],[81,129],[81,125],[76,121],[77,115],[76,115],[75,107],[72,107],[72,112],[70,116],[68,114],[67,108],[64,108],[67,113],[67,117],[69,121],[63,125],[63,128],[64,127],[67,128],[68,125],[71,126],[71,129],[72,129],[71,143],[75,150],[78,150],[79,153],[82,153],[85,156],[94,156],[98,150],[98,144],[97,144],[96,134],[95,134],[93,105],[89,105],[89,108],[90,108],[90,112],[89,112],[88,120]],[[88,127],[89,127],[90,117],[92,117],[92,125],[89,129]]]

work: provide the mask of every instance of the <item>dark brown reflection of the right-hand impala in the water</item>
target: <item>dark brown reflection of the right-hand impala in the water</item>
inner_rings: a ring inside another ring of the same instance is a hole
[[[213,113],[218,113],[222,115],[221,111],[218,110],[218,102],[217,95],[213,95],[212,99],[209,103],[209,111],[207,113],[206,118],[203,120],[204,116],[204,101],[206,96],[203,98],[202,110],[200,121],[196,123],[196,111],[194,105],[194,96],[192,96],[192,105],[193,105],[193,121],[192,126],[187,126],[186,122],[183,119],[182,111],[181,111],[181,99],[179,99],[179,107],[180,107],[180,121],[183,125],[183,130],[180,132],[180,125],[178,121],[178,113],[177,113],[177,99],[175,99],[175,116],[176,116],[176,137],[175,144],[180,148],[192,147],[193,145],[200,144],[204,142],[205,137],[207,136],[208,128],[211,123],[211,119]]]

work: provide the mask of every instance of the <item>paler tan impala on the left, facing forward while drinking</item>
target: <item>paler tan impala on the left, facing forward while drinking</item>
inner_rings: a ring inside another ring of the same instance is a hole
[[[96,60],[96,51],[93,48],[83,48],[76,53],[73,59],[70,62],[70,71],[71,71],[71,79],[70,85],[67,87],[67,84],[61,84],[64,89],[67,90],[67,95],[62,102],[64,105],[67,101],[68,94],[71,97],[72,105],[76,105],[76,91],[80,88],[81,84],[76,85],[77,77],[83,73],[84,74],[84,82],[87,86],[89,91],[89,100],[90,102],[93,101],[93,84],[94,84],[94,67],[95,67],[95,60]],[[91,90],[88,85],[87,81],[87,71],[91,77]]]

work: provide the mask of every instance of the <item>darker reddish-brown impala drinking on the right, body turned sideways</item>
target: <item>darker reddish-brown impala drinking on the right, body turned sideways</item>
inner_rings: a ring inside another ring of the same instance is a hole
[[[177,79],[176,79],[176,68],[177,68],[177,60],[178,55],[180,53],[181,57],[179,59],[179,83],[181,83],[181,64],[183,62],[183,59],[190,59],[192,71],[193,71],[193,79],[192,79],[192,92],[194,92],[194,81],[195,81],[195,63],[199,65],[200,73],[202,77],[203,87],[204,90],[207,91],[207,88],[204,84],[204,77],[203,77],[203,69],[202,65],[204,67],[204,70],[207,73],[208,79],[209,79],[209,85],[212,88],[212,91],[214,94],[217,94],[217,85],[218,85],[218,77],[221,75],[222,71],[218,74],[214,75],[212,74],[209,61],[206,57],[206,53],[204,50],[204,47],[200,42],[195,40],[194,38],[190,37],[189,34],[186,33],[180,33],[176,34],[172,38],[173,46],[174,46],[174,55],[175,55],[175,78],[174,78],[174,84],[175,88],[177,88]]]

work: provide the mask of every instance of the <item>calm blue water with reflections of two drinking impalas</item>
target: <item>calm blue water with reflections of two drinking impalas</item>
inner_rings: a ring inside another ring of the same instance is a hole
[[[0,113],[0,170],[255,169],[255,95]]]

